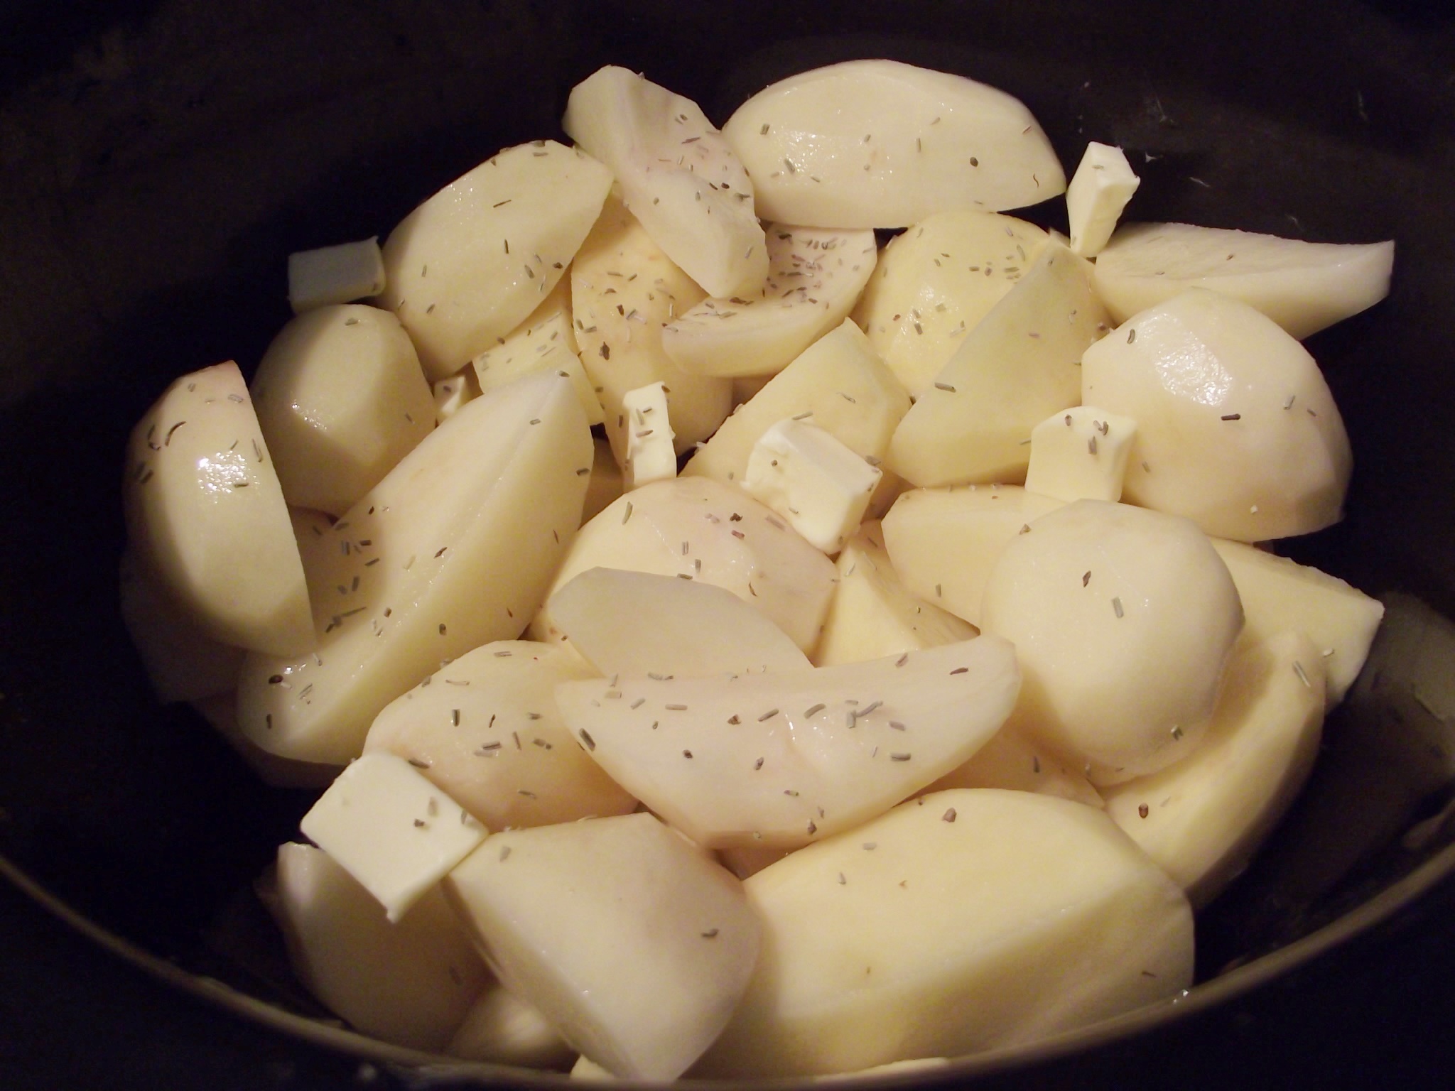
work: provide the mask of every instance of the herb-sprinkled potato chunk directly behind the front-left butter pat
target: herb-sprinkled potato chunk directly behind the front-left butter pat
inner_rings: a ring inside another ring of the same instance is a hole
[[[551,697],[589,676],[567,649],[482,644],[390,701],[364,754],[406,759],[489,829],[624,815],[636,800],[582,752]]]

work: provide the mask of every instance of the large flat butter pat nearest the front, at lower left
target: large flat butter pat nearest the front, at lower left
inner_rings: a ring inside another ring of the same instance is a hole
[[[365,754],[300,823],[397,921],[489,831],[394,754]]]

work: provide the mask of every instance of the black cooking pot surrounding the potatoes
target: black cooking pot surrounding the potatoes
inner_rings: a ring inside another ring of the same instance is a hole
[[[1390,637],[1330,719],[1299,806],[1203,914],[1202,983],[915,1082],[1288,1087],[1344,1069],[1445,1082],[1455,25],[1442,6],[131,0],[32,1],[9,22],[0,870],[16,889],[0,895],[0,1085],[511,1078],[422,1075],[409,1065],[423,1058],[308,1018],[249,882],[310,797],[265,788],[189,711],[150,698],[116,614],[122,441],[176,374],[256,364],[288,317],[290,250],[384,236],[501,145],[557,135],[566,92],[599,64],[642,70],[722,122],[773,79],[853,57],[1010,90],[1068,166],[1087,140],[1120,144],[1144,179],[1135,218],[1398,243],[1390,298],[1310,342],[1356,476],[1343,524],[1288,543],[1384,598]]]

